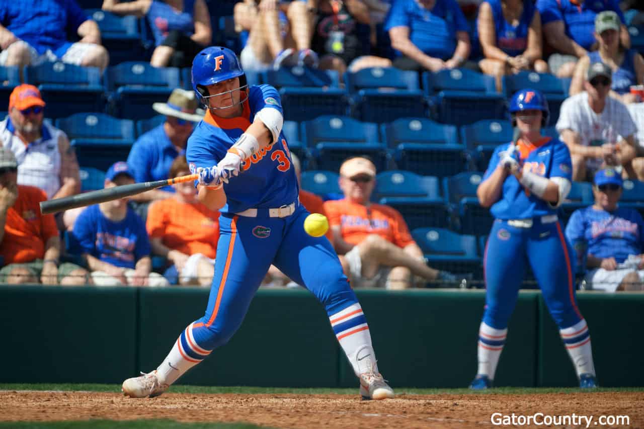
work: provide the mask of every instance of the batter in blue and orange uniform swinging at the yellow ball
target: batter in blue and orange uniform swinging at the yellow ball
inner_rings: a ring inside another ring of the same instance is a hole
[[[186,327],[155,371],[124,381],[124,394],[158,396],[227,343],[272,263],[325,305],[363,398],[393,397],[331,243],[304,231],[309,213],[298,201],[278,91],[269,85],[249,88],[236,55],[218,46],[196,55],[192,80],[209,109],[188,140],[186,157],[191,171],[200,174],[199,200],[222,213],[213,285],[205,316]],[[258,360],[262,352],[257,350]]]

